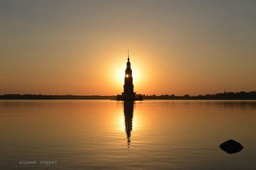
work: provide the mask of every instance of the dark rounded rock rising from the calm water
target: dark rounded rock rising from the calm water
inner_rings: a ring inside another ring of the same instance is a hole
[[[232,153],[240,152],[243,149],[243,146],[242,144],[232,139],[229,139],[228,141],[220,144],[220,148],[225,152],[232,154]]]

